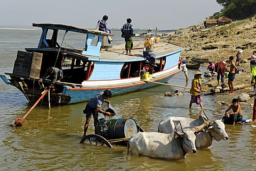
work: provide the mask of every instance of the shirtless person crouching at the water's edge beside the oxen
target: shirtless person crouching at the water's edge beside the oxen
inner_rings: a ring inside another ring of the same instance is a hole
[[[233,113],[228,113],[228,111],[232,109]],[[243,112],[241,106],[238,104],[238,99],[232,100],[232,105],[225,111],[225,116],[223,117],[225,124],[233,124],[242,121]]]

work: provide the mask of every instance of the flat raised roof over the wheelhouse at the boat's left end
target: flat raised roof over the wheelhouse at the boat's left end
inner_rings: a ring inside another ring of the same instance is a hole
[[[74,27],[71,25],[64,25],[64,24],[33,23],[32,25],[33,27],[41,27],[41,28],[47,28],[47,29],[57,29],[57,30],[79,32],[79,33],[94,33],[97,35],[113,36],[112,34],[106,33],[104,31],[84,29],[84,28],[79,28],[79,27]]]

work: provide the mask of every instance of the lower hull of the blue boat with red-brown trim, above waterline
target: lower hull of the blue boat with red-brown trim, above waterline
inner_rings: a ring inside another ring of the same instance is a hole
[[[165,74],[159,74],[157,78],[155,78],[154,82],[159,83],[166,83],[169,81],[175,74],[179,73],[181,70],[174,69],[170,72],[167,72]],[[39,97],[41,97],[41,92],[44,89],[41,90],[31,90],[31,89],[23,89],[22,86],[20,86],[21,82],[22,84],[29,84],[28,81],[31,82],[31,80],[26,79],[20,79],[19,77],[10,76],[10,75],[1,75],[1,78],[4,80],[6,84],[11,84],[14,87],[17,87],[28,99],[29,102],[35,102]],[[140,80],[140,78],[134,78],[130,83],[125,84],[117,84],[117,85],[102,85],[102,86],[84,86],[84,87],[69,87],[69,86],[63,86],[63,91],[60,93],[57,92],[51,92],[51,103],[52,104],[75,104],[78,102],[84,102],[92,98],[95,94],[98,92],[104,91],[104,90],[110,90],[112,92],[113,96],[121,95],[124,93],[139,91],[143,89],[152,88],[155,86],[159,86],[157,83],[153,82],[146,82],[143,80]],[[109,81],[111,82],[111,81]],[[48,102],[48,99],[45,99],[45,102]]]

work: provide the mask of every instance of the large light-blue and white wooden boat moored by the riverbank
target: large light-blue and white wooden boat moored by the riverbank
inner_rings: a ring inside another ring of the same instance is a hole
[[[26,52],[18,51],[13,73],[1,75],[6,84],[22,91],[29,102],[41,96],[43,89],[38,81],[49,66],[63,71],[62,82],[55,83],[55,91],[50,93],[52,104],[86,101],[106,89],[116,96],[157,86],[156,83],[140,80],[140,70],[146,61],[142,55],[143,40],[133,42],[134,56],[125,55],[124,44],[113,45],[101,53],[103,38],[113,35],[62,24],[33,23],[33,26],[42,28],[37,48],[25,48]],[[67,44],[62,47],[63,40],[66,43],[69,34],[76,34],[76,38],[81,38],[83,43],[78,48]],[[61,44],[58,41],[62,41]],[[155,44],[157,67],[154,67],[154,81],[167,82],[180,72],[178,61],[182,49],[164,42]],[[70,66],[63,66],[65,59],[72,60]],[[51,80],[46,79],[43,83],[45,87],[49,86]]]

